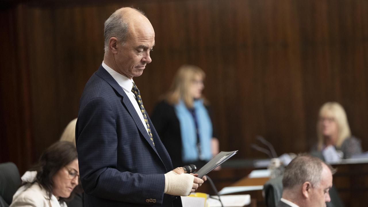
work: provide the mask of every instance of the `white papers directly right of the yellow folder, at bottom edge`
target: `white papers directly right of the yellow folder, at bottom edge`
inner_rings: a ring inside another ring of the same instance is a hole
[[[217,196],[211,196],[218,198]],[[227,195],[220,196],[222,204],[224,207],[242,207],[251,203],[250,195]],[[207,199],[208,207],[221,207],[221,203],[217,199],[209,198]]]

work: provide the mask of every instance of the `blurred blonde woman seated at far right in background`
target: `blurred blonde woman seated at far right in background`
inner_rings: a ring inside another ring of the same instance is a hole
[[[317,136],[318,143],[312,151],[322,152],[327,162],[362,153],[360,140],[351,136],[345,110],[337,102],[327,102],[319,110]]]

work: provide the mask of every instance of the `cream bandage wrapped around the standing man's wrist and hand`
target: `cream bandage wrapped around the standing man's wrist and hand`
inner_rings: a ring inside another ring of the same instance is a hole
[[[192,190],[194,176],[190,174],[178,174],[170,171],[165,174],[164,193],[173,196],[188,196]]]

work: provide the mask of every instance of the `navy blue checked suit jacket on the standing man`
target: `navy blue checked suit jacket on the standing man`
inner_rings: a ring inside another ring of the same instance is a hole
[[[155,146],[130,99],[100,66],[88,80],[75,130],[85,206],[172,206],[171,159],[148,117]]]

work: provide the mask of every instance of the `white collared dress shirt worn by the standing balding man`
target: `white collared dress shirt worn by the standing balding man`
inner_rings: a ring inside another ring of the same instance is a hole
[[[135,94],[132,92],[134,83],[133,79],[129,79],[128,77],[123,76],[122,74],[114,71],[112,68],[107,66],[103,61],[102,67],[116,80],[116,82],[120,85],[120,87],[123,88],[125,94],[128,95],[130,102],[132,102],[134,109],[137,111],[137,114],[139,118],[141,118],[143,126],[146,128],[146,131],[148,133],[147,125],[146,122],[144,121],[143,114],[141,112],[141,109],[139,108],[137,100],[135,99]]]

